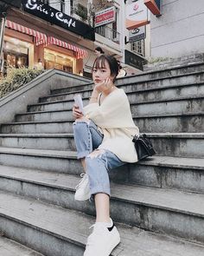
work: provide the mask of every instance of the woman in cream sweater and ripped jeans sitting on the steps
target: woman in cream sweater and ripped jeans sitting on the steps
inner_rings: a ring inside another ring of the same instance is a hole
[[[113,56],[98,56],[92,68],[95,86],[84,108],[85,115],[73,106],[74,140],[86,172],[76,187],[75,200],[92,197],[96,207],[96,222],[84,256],[108,256],[118,245],[119,233],[110,218],[108,171],[137,161],[132,135],[139,131],[124,90],[114,85],[117,75],[117,60]]]

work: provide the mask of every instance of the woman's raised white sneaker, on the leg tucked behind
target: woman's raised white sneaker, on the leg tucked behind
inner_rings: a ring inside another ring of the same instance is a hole
[[[77,185],[76,192],[74,194],[75,200],[88,200],[91,197],[88,175],[87,174],[80,174],[82,178],[80,183]]]

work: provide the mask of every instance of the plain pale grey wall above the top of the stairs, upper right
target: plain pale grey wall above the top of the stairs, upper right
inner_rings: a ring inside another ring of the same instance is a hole
[[[162,14],[151,15],[151,56],[204,52],[204,0],[162,0]]]

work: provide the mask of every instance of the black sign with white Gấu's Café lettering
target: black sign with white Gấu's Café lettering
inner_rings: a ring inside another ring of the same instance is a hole
[[[49,23],[56,24],[92,41],[95,40],[94,29],[91,26],[54,9],[48,4],[41,3],[39,0],[22,0],[22,7],[30,14],[38,16]]]

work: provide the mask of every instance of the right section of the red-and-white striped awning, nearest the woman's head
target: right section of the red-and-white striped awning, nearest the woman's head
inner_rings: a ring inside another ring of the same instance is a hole
[[[83,59],[88,55],[88,53],[85,49],[81,49],[77,46],[74,46],[71,43],[66,43],[64,41],[61,41],[61,40],[55,38],[54,36],[48,36],[48,44],[54,44],[54,45],[58,45],[63,48],[73,50],[76,53],[77,59]]]

